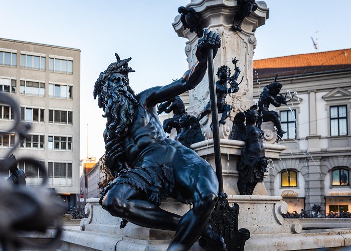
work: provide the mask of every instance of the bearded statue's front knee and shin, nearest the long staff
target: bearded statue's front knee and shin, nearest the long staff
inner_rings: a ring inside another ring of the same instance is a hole
[[[218,183],[207,174],[199,175],[193,185],[194,206],[179,221],[168,251],[188,250],[208,225],[210,215],[218,201]]]

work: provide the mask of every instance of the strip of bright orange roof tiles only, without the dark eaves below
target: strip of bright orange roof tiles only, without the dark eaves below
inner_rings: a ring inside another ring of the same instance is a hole
[[[351,64],[351,49],[298,54],[254,61],[254,69]]]

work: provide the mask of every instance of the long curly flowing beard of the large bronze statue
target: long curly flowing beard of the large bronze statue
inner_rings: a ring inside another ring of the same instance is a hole
[[[125,168],[125,149],[122,139],[128,132],[128,126],[133,121],[134,108],[138,104],[133,90],[114,86],[110,89],[107,83],[103,86],[105,93],[105,114],[107,118],[105,135],[105,165],[110,173],[116,177]]]

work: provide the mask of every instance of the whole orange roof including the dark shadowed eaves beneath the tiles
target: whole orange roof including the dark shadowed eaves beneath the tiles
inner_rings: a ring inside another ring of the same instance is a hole
[[[351,69],[351,49],[254,60],[254,79]]]

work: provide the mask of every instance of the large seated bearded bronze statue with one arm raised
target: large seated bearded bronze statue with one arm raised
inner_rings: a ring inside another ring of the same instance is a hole
[[[209,224],[218,200],[218,180],[212,167],[193,150],[166,138],[155,106],[195,88],[207,69],[209,48],[216,55],[220,36],[204,33],[198,61],[184,76],[163,87],[135,95],[129,86],[130,58],[112,63],[95,83],[94,98],[107,118],[105,164],[116,177],[102,192],[100,203],[111,215],[134,224],[174,230],[168,250],[188,250],[201,236],[224,240]],[[193,208],[183,217],[159,208],[167,196]],[[125,223],[125,221],[124,221]],[[123,225],[122,225],[123,226]]]

